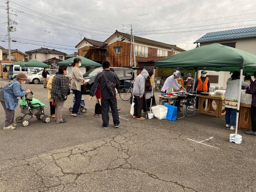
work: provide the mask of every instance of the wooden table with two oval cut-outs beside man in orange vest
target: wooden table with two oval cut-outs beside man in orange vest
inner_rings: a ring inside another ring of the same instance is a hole
[[[197,95],[198,97],[198,114],[206,114],[216,117],[221,117],[225,115],[226,111],[225,108],[222,110],[222,103],[224,100],[223,97],[216,97],[216,96],[204,96],[204,95]],[[207,109],[205,110],[203,107],[204,101],[208,100],[207,102]],[[215,101],[217,108],[216,110],[212,107],[212,101]]]

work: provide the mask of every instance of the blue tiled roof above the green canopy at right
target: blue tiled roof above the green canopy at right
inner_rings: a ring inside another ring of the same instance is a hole
[[[226,40],[226,39],[237,39],[237,38],[244,38],[244,37],[255,37],[255,36],[256,36],[256,27],[248,27],[248,28],[231,29],[226,31],[206,33],[204,36],[197,39],[194,43],[219,41],[219,40]]]

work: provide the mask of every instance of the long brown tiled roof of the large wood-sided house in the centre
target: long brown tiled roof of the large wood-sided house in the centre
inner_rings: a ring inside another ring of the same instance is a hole
[[[131,35],[130,34],[127,34],[127,33],[122,33],[122,32],[119,32],[116,30],[115,33],[118,33],[120,34],[121,36],[124,36],[128,39],[131,38]],[[163,48],[167,48],[167,49],[176,49],[178,51],[186,51],[184,49],[181,49],[180,47],[177,47],[176,45],[171,45],[171,44],[166,44],[166,43],[162,43],[162,42],[159,42],[159,41],[154,41],[154,40],[151,40],[151,39],[146,39],[146,38],[143,38],[143,37],[138,37],[138,36],[134,36],[134,41],[135,42],[139,42],[139,43],[145,43],[145,44],[149,44],[149,45],[154,45],[156,47],[163,47]]]

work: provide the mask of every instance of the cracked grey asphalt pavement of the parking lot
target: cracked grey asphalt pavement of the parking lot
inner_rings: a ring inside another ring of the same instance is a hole
[[[0,79],[0,86],[8,82]],[[25,84],[46,105],[43,84]],[[129,101],[117,97],[120,126],[101,127],[87,112],[71,117],[73,97],[65,102],[65,124],[32,119],[27,127],[0,130],[0,191],[256,191],[256,137],[242,135],[242,144],[229,142],[225,118],[186,116],[168,121],[139,121],[130,115]],[[156,97],[156,102],[158,98]],[[4,110],[0,106],[0,127]],[[22,115],[20,108],[15,117]]]

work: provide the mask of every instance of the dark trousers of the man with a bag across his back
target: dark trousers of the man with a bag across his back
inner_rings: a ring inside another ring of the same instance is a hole
[[[117,111],[116,98],[101,100],[101,116],[102,116],[103,125],[108,125],[108,123],[109,123],[109,116],[108,116],[109,106],[112,111],[114,125],[116,125],[116,124],[118,125],[119,124],[119,115],[118,115],[118,111]]]

